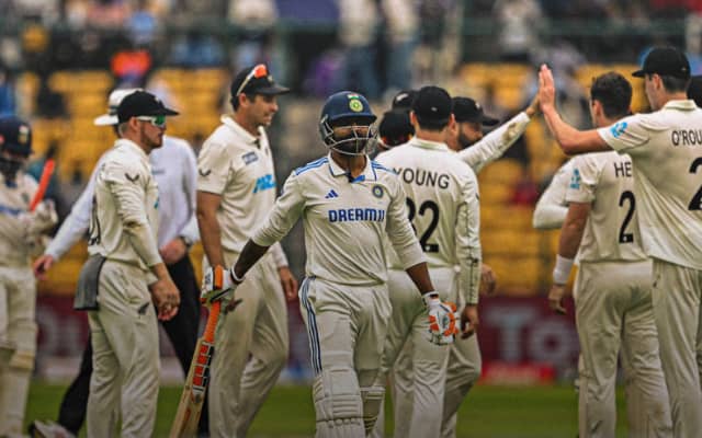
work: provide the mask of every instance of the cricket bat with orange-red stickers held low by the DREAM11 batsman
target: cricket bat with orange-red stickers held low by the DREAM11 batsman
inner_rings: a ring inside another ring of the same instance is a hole
[[[188,371],[185,387],[180,396],[178,412],[171,426],[170,438],[197,436],[197,423],[205,401],[205,390],[210,381],[210,364],[215,348],[215,328],[219,319],[222,301],[215,301],[210,308],[205,333],[197,339],[193,361]]]

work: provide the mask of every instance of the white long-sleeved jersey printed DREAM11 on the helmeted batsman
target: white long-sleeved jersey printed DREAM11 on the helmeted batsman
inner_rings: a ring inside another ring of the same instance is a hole
[[[386,235],[403,268],[426,261],[407,219],[397,175],[369,158],[363,173],[352,181],[331,155],[293,171],[268,220],[251,239],[269,246],[287,234],[299,217],[308,277],[358,286],[385,283]]]

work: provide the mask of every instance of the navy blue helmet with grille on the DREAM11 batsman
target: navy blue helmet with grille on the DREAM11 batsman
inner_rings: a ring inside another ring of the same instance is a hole
[[[346,154],[366,153],[367,147],[375,146],[375,131],[371,125],[377,117],[371,110],[369,101],[360,93],[353,91],[340,91],[327,99],[319,117],[319,135],[328,147]],[[336,139],[333,127],[339,126],[367,126],[367,134],[359,137]]]

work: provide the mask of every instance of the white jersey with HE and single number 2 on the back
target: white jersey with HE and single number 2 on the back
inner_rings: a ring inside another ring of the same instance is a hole
[[[571,162],[566,201],[591,204],[578,250],[579,260],[648,260],[641,246],[631,158],[612,151],[578,155]]]

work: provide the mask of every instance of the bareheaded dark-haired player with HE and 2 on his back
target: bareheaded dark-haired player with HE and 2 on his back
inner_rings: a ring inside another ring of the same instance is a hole
[[[625,117],[631,96],[631,84],[621,74],[597,77],[590,88],[592,124],[610,126]],[[631,158],[610,151],[578,155],[571,163],[568,214],[548,302],[554,311],[565,312],[562,300],[570,269],[561,268],[579,252],[574,291],[581,350],[579,436],[615,435],[620,350],[629,435],[672,436],[652,310],[652,263],[641,246]]]

